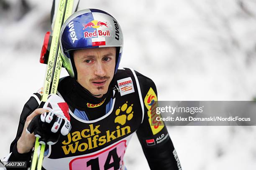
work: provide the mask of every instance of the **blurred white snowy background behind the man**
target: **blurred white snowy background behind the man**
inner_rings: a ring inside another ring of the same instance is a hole
[[[0,158],[19,115],[43,85],[39,63],[51,0],[0,0]],[[252,100],[256,94],[256,0],[81,0],[112,14],[124,34],[121,67],[156,83],[159,100]],[[62,75],[66,75],[62,70]],[[256,169],[255,127],[168,127],[183,170]],[[148,170],[132,138],[128,170]]]

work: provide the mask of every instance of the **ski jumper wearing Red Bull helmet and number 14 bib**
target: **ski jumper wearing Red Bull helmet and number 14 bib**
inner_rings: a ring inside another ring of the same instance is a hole
[[[36,136],[48,144],[42,169],[124,170],[136,132],[151,170],[181,170],[164,123],[151,115],[154,82],[132,69],[118,70],[123,34],[115,18],[102,10],[78,11],[62,26],[60,45],[70,76],[61,78],[43,108],[41,91],[28,100],[2,161],[29,162]]]

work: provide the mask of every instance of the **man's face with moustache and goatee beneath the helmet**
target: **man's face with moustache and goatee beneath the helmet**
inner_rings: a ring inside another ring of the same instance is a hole
[[[115,47],[89,48],[74,51],[77,81],[96,97],[102,97],[115,72]]]

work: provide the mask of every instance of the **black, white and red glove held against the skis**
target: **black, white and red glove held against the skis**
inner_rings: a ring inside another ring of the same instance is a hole
[[[60,135],[67,135],[71,130],[69,107],[58,95],[49,95],[44,107],[49,112],[36,115],[30,122],[27,132],[39,138],[39,143],[54,145]]]

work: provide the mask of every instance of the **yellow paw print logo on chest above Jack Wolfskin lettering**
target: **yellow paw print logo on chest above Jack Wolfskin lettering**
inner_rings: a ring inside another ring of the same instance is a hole
[[[124,125],[126,123],[126,120],[131,120],[133,118],[133,104],[128,107],[127,103],[128,101],[126,101],[125,104],[115,110],[115,115],[117,115],[117,117],[115,117],[115,123]]]

